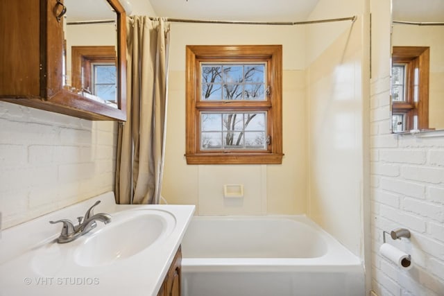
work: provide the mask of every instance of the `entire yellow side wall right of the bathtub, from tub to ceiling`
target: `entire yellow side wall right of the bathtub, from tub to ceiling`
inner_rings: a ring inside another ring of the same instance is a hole
[[[307,26],[307,215],[364,258],[364,1],[319,1],[309,19],[354,15],[354,23]]]

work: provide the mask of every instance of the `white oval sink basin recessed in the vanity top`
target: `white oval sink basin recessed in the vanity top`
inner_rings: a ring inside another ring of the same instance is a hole
[[[92,232],[76,247],[74,261],[83,266],[109,264],[138,254],[176,226],[174,216],[161,210],[123,211],[112,215],[111,223]]]

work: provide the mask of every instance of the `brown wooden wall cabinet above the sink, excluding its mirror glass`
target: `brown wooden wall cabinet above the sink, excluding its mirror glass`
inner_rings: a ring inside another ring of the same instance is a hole
[[[0,100],[82,119],[126,121],[126,13],[118,0],[107,1],[117,12],[117,108],[63,87],[63,18],[57,16],[64,6],[58,0],[0,2]]]

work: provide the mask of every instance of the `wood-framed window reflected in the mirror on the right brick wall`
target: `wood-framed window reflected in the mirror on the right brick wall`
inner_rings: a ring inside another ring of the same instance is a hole
[[[429,128],[429,47],[393,46],[392,130]]]

